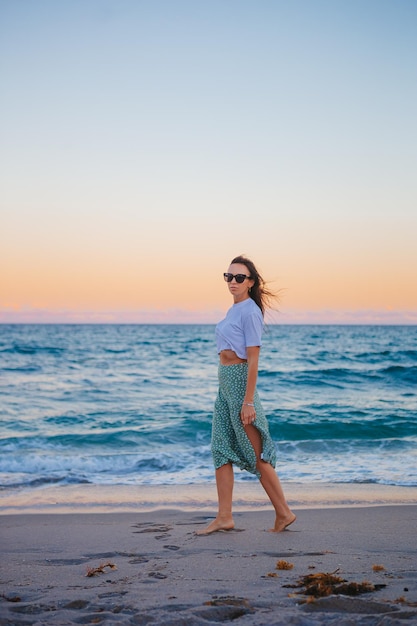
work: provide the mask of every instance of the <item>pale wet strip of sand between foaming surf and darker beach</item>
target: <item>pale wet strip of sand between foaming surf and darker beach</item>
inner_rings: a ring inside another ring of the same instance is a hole
[[[417,504],[417,487],[352,483],[283,482],[294,509]],[[235,511],[270,510],[257,481],[236,481]],[[214,483],[190,485],[60,485],[0,491],[0,516],[19,514],[134,513],[164,509],[216,510]]]

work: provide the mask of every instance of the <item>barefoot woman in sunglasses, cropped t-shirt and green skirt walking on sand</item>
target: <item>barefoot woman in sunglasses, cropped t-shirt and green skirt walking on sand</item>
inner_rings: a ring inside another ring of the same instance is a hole
[[[216,327],[220,356],[219,392],[214,406],[212,454],[216,469],[218,512],[208,535],[234,528],[233,465],[256,474],[275,509],[271,532],[281,532],[296,516],[288,507],[275,472],[275,447],[256,391],[265,308],[273,294],[249,259],[238,256],[224,274],[233,306]]]

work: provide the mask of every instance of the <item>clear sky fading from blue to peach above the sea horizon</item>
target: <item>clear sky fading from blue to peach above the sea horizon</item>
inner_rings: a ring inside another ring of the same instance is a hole
[[[415,0],[0,0],[0,322],[417,323]]]

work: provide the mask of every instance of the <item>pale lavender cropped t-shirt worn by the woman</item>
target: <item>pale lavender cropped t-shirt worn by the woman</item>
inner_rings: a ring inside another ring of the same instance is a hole
[[[250,346],[261,346],[264,320],[252,298],[234,304],[216,326],[217,352],[233,350],[240,359],[247,358]]]

